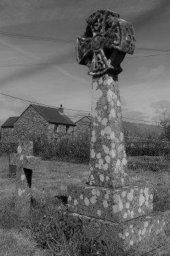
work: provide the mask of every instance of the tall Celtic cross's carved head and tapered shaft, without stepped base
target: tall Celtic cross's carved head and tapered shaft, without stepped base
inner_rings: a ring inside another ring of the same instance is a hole
[[[76,53],[93,76],[90,185],[116,188],[129,183],[118,74],[126,53],[133,54],[135,33],[130,23],[108,10],[91,14],[86,22]]]

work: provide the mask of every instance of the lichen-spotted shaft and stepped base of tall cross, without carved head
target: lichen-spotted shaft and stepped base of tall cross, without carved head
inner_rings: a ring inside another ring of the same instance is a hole
[[[153,213],[152,188],[124,186],[129,176],[118,91],[116,76],[93,78],[89,182],[68,187],[68,218],[81,220],[88,236],[104,241],[113,255],[140,256],[167,243],[167,212]]]

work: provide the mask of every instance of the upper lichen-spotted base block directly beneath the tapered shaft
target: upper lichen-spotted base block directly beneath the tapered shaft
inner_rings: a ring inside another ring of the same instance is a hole
[[[152,189],[145,186],[116,189],[80,185],[67,190],[69,211],[106,221],[124,222],[153,210]]]

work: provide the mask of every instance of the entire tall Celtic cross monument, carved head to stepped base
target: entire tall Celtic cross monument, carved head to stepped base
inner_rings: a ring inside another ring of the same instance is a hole
[[[68,188],[68,216],[82,220],[88,236],[103,240],[113,255],[160,255],[167,248],[167,212],[153,212],[152,188],[129,186],[122,130],[118,74],[135,49],[133,26],[109,10],[86,22],[76,48],[78,63],[93,76],[90,175],[88,186]]]

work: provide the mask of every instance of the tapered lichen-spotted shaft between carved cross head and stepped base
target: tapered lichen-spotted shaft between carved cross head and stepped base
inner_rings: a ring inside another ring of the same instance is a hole
[[[117,76],[93,77],[89,184],[129,184]]]

